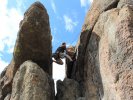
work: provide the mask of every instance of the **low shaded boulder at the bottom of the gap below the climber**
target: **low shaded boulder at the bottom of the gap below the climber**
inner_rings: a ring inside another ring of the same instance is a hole
[[[77,100],[81,96],[78,82],[65,78],[64,81],[57,81],[56,100]]]

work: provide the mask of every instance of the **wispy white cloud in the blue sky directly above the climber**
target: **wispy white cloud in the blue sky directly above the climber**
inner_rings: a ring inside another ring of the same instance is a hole
[[[65,28],[67,31],[72,32],[74,27],[77,26],[78,22],[73,21],[69,16],[64,15],[64,21],[65,21]]]

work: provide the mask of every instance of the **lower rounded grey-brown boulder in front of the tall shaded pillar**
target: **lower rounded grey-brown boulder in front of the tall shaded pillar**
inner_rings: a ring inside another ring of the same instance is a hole
[[[24,62],[13,79],[10,100],[54,100],[54,81],[36,63]]]

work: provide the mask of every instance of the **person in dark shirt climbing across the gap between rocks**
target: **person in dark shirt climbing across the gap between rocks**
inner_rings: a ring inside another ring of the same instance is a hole
[[[52,57],[55,59],[53,62],[63,65],[63,61],[61,59],[68,58],[70,61],[73,61],[72,58],[66,54],[66,43],[63,42],[60,47],[57,48],[55,53],[52,54]]]

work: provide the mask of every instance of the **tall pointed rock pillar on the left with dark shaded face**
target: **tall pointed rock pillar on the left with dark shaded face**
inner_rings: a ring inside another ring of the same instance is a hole
[[[52,76],[51,53],[49,17],[45,7],[40,2],[35,2],[25,12],[24,19],[20,22],[13,59],[0,80],[2,88],[0,100],[11,93],[13,77],[20,65],[27,60],[37,63]]]

